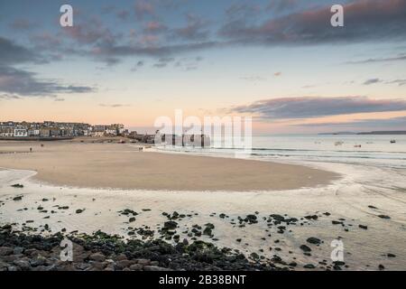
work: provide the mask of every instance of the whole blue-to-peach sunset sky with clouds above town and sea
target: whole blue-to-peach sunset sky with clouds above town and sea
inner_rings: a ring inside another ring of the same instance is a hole
[[[406,0],[0,2],[0,121],[147,130],[174,109],[254,134],[406,130]]]

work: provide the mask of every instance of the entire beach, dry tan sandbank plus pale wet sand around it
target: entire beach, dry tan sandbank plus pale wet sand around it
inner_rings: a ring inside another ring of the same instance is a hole
[[[0,166],[8,168],[0,171],[0,222],[25,232],[203,240],[292,270],[337,267],[334,240],[345,248],[338,269],[402,270],[406,262],[402,170],[158,154],[134,144],[79,141],[3,143],[0,153]],[[162,230],[168,220],[173,235]]]

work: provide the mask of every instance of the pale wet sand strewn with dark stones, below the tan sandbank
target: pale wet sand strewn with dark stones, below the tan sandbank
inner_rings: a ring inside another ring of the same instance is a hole
[[[378,270],[380,265],[404,270],[406,199],[404,191],[391,189],[404,188],[404,175],[346,164],[334,164],[334,170],[346,176],[325,187],[210,192],[56,187],[32,182],[35,172],[4,170],[0,171],[0,224],[14,223],[24,232],[44,235],[102,230],[130,239],[166,240],[160,233],[166,214],[174,216],[177,211],[180,241],[197,238],[245,256],[263,256],[263,262],[280,257],[287,264],[296,263],[295,270],[309,264],[323,270],[331,268],[331,242],[342,240],[343,270]],[[11,187],[14,183],[23,188]],[[133,214],[125,215],[124,210],[137,215],[131,219]],[[274,214],[297,220],[276,223]],[[248,216],[256,216],[257,222],[245,221]],[[209,223],[214,225],[211,236],[203,234]],[[196,225],[201,227],[198,231]],[[152,236],[146,236],[150,230]],[[318,238],[321,244],[310,244],[309,238]],[[173,238],[167,241],[174,244]],[[311,251],[304,252],[302,245]]]

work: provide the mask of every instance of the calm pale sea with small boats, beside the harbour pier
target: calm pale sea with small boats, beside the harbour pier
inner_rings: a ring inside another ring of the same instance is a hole
[[[391,144],[395,140],[395,144]],[[195,154],[235,154],[230,148],[166,148]],[[281,161],[359,163],[406,168],[406,135],[271,135],[254,136],[255,158]]]

